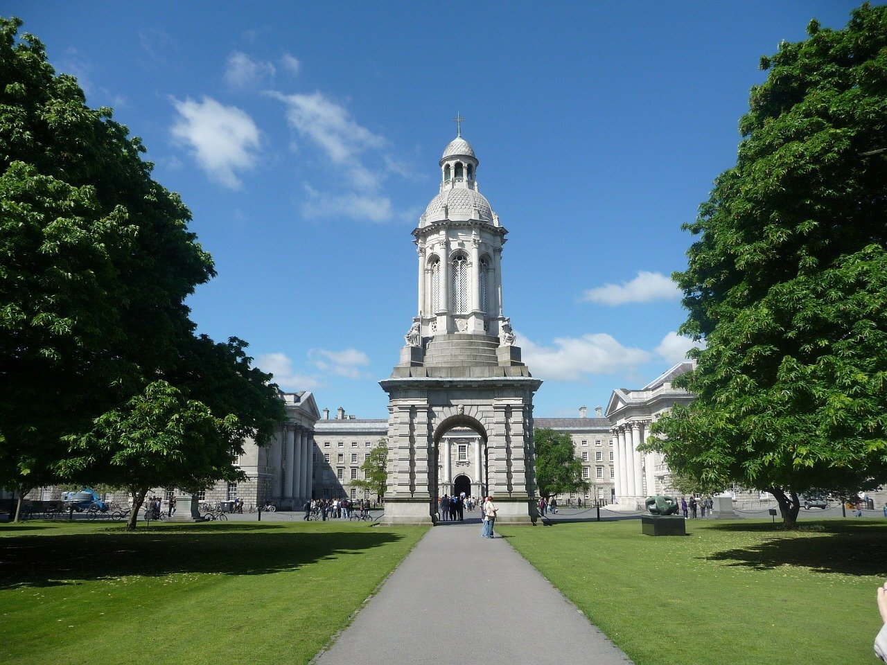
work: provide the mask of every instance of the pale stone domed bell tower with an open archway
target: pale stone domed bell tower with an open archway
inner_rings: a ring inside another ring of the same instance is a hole
[[[412,231],[419,254],[417,316],[400,362],[380,382],[389,395],[389,523],[435,519],[438,491],[451,482],[439,477],[449,473],[439,444],[454,428],[479,435],[483,464],[473,482],[492,494],[498,520],[537,517],[533,394],[542,381],[522,364],[503,315],[508,231],[478,191],[479,163],[459,130],[439,162],[439,192]]]

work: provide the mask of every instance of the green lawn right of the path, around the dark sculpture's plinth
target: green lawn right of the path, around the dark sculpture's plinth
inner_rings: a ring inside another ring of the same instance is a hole
[[[887,522],[802,528],[687,520],[687,537],[652,537],[627,520],[497,530],[638,665],[877,662]]]

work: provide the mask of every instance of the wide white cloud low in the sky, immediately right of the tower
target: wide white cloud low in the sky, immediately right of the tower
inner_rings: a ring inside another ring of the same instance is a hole
[[[523,362],[540,379],[577,381],[586,374],[631,371],[650,359],[641,348],[624,347],[610,335],[598,332],[582,337],[562,337],[552,347],[541,347],[518,337]]]

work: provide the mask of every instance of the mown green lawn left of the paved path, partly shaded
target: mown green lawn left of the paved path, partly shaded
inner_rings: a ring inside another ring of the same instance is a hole
[[[307,663],[425,530],[0,526],[0,662]]]

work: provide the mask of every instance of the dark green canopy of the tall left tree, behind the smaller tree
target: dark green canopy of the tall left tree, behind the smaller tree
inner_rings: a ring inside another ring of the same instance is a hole
[[[191,213],[20,25],[0,19],[0,486],[56,481],[61,438],[155,379],[262,439],[270,377],[243,342],[194,337],[184,298],[215,272]]]

